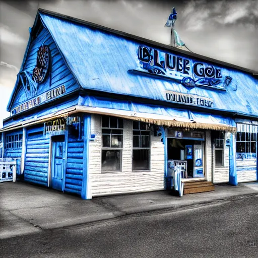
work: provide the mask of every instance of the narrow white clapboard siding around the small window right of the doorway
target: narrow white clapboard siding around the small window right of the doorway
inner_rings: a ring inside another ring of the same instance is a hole
[[[229,147],[224,144],[224,166],[215,166],[215,146],[213,145],[214,183],[228,183],[229,179]]]

